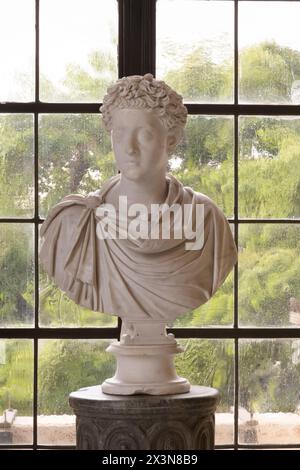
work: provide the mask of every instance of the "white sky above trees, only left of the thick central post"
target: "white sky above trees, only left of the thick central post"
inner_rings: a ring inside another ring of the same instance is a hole
[[[0,101],[15,94],[18,72],[33,77],[34,3],[0,0]],[[40,0],[40,72],[59,81],[68,63],[87,68],[99,45],[117,56],[117,14],[116,0]]]

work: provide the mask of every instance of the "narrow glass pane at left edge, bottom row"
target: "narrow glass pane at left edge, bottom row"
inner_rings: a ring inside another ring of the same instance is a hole
[[[33,342],[0,339],[0,444],[32,444]]]

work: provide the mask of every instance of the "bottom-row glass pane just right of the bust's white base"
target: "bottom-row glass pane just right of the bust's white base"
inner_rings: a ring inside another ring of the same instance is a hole
[[[217,388],[216,444],[233,442],[234,345],[232,340],[179,340],[185,349],[175,359],[177,374],[192,385]]]

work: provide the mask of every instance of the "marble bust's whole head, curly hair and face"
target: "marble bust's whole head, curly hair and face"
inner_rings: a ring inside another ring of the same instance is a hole
[[[108,88],[100,111],[118,168],[133,178],[166,168],[187,119],[182,97],[151,74],[118,80]]]

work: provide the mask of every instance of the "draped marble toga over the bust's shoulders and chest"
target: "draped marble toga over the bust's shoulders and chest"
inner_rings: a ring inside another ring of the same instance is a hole
[[[187,250],[184,235],[101,239],[97,208],[119,180],[120,175],[110,178],[88,196],[66,196],[49,211],[40,232],[41,263],[81,306],[130,320],[174,320],[209,300],[236,263],[230,226],[209,197],[167,175],[165,204],[190,204],[192,213],[203,204],[201,249]]]

